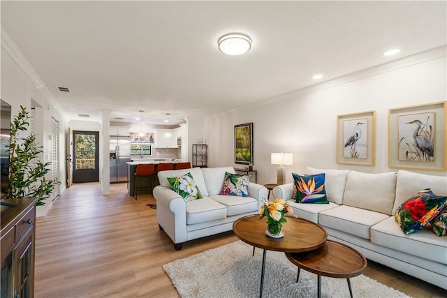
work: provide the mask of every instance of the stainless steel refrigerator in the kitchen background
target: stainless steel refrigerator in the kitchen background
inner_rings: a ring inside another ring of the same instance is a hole
[[[110,183],[127,181],[128,161],[131,161],[131,137],[110,136]]]

